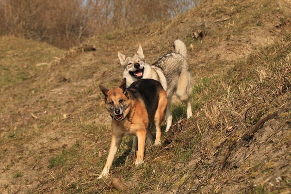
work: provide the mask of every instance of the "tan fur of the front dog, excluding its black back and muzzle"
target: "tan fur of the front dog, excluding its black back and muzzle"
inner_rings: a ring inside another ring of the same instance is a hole
[[[109,174],[109,169],[113,163],[114,155],[117,152],[118,147],[121,144],[122,137],[127,135],[135,135],[132,144],[132,150],[137,149],[137,157],[135,165],[140,165],[144,163],[144,151],[146,138],[150,136],[147,130],[149,129],[149,123],[153,122],[156,126],[156,140],[155,145],[161,144],[161,123],[165,117],[165,110],[167,107],[167,96],[165,90],[161,90],[159,94],[159,103],[157,111],[154,115],[153,121],[148,120],[148,115],[146,111],[145,104],[142,99],[131,99],[126,97],[122,88],[115,88],[112,90],[107,90],[103,86],[100,89],[105,93],[106,97],[106,109],[110,112],[110,102],[113,101],[113,106],[118,105],[119,99],[125,99],[123,104],[126,105],[126,110],[124,111],[124,118],[122,120],[112,119],[112,141],[110,146],[110,151],[104,169],[98,178],[102,178]],[[138,145],[137,145],[138,144]]]

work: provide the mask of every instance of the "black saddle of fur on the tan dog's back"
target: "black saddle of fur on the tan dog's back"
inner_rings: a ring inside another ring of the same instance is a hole
[[[142,98],[144,101],[149,120],[153,119],[153,116],[157,111],[159,97],[162,91],[164,90],[161,83],[152,79],[134,81],[128,87],[128,92],[131,98]]]

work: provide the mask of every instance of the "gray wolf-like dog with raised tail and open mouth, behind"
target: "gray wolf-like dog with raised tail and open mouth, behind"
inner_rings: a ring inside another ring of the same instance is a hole
[[[162,87],[166,90],[168,97],[166,132],[169,131],[172,125],[173,116],[170,111],[170,99],[175,93],[187,106],[187,118],[192,116],[189,100],[191,75],[187,62],[187,48],[182,41],[175,40],[174,49],[174,52],[163,55],[152,65],[146,63],[144,52],[140,45],[137,54],[132,57],[126,57],[118,51],[118,58],[124,67],[123,77],[127,79],[127,87],[134,81],[148,78],[160,81]]]

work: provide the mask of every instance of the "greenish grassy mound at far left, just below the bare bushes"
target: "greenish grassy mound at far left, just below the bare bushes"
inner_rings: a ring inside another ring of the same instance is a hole
[[[43,66],[49,65],[48,62],[65,52],[13,36],[2,36],[0,40],[1,93],[9,86],[31,79],[37,71],[43,70]]]

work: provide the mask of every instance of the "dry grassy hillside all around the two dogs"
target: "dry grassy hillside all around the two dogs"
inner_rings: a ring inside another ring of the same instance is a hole
[[[0,193],[117,193],[113,178],[123,193],[290,192],[290,15],[287,0],[209,0],[92,37],[81,45],[92,52],[1,37]],[[174,103],[175,124],[161,147],[146,148],[145,164],[133,165],[126,137],[111,177],[98,180],[111,139],[98,85],[119,85],[118,50],[132,55],[140,43],[153,63],[177,38],[189,52],[194,117]]]

